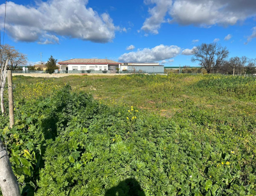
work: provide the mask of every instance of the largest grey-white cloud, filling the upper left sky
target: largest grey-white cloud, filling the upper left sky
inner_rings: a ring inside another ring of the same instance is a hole
[[[87,7],[88,0],[36,1],[36,6],[23,6],[11,1],[6,7],[6,31],[18,41],[40,44],[58,43],[57,36],[106,43],[115,37],[113,20],[107,13],[99,15]],[[0,5],[4,17],[5,4]],[[121,31],[126,32],[123,28]]]

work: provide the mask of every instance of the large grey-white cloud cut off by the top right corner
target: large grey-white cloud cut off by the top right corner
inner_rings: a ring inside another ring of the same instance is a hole
[[[162,23],[209,27],[235,25],[256,16],[255,0],[144,0],[149,17],[141,29],[157,34]],[[168,18],[170,17],[170,18]]]

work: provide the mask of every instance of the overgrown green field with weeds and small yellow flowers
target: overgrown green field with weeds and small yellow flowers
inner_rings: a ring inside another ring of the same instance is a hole
[[[13,83],[15,126],[0,127],[23,195],[256,195],[256,78]]]

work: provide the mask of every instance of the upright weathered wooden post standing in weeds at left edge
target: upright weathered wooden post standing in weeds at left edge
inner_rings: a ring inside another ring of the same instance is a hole
[[[7,80],[8,80],[10,128],[12,128],[12,126],[14,124],[13,92],[12,92],[12,70],[7,70]]]

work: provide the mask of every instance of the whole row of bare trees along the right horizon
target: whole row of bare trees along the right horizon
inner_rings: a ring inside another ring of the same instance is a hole
[[[228,59],[227,47],[217,43],[202,43],[192,49],[192,62],[199,62],[207,73],[243,74],[256,72],[256,58],[250,59],[245,56]]]

